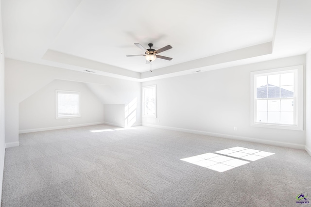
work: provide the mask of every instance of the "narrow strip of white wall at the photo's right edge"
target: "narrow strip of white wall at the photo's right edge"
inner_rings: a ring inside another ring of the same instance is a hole
[[[311,50],[306,54],[306,151],[311,155]]]

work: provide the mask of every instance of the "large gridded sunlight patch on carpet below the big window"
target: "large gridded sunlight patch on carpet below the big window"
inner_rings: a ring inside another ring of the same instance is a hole
[[[255,161],[274,154],[239,146],[216,151],[215,153],[206,153],[180,160],[222,173],[247,164],[249,161]]]

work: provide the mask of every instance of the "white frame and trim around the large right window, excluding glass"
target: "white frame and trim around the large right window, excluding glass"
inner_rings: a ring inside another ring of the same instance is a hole
[[[294,125],[258,123],[256,122],[256,77],[261,75],[273,75],[283,72],[294,72]],[[303,65],[277,68],[271,70],[261,70],[251,72],[251,126],[268,127],[279,129],[303,130]]]

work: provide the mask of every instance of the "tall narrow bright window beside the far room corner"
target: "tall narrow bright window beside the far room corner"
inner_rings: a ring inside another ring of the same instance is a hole
[[[143,115],[156,117],[156,87],[155,85],[142,88]]]

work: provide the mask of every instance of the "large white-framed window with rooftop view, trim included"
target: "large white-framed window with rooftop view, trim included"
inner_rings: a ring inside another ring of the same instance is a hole
[[[252,126],[302,130],[302,66],[251,73]]]

